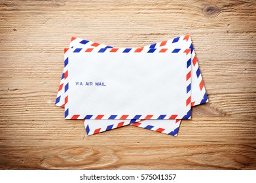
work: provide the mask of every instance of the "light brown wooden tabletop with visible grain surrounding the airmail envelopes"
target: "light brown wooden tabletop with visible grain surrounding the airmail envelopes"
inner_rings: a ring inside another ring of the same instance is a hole
[[[0,1],[1,169],[255,169],[256,1]],[[172,137],[87,137],[54,106],[72,36],[135,47],[189,33],[210,102]]]

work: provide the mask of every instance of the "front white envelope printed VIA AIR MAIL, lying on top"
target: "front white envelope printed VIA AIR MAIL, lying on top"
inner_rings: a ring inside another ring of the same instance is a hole
[[[190,118],[190,49],[71,48],[66,54],[65,119]]]

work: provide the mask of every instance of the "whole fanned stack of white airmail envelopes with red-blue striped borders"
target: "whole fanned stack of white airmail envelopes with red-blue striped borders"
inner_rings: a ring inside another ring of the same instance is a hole
[[[176,136],[191,107],[208,102],[189,35],[140,48],[72,37],[56,106],[87,135],[124,125]]]

